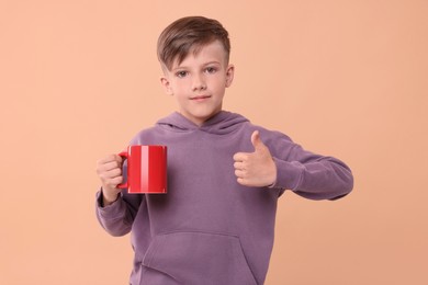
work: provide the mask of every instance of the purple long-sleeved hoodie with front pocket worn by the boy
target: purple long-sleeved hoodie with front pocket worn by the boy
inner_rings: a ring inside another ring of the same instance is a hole
[[[260,132],[278,169],[271,187],[237,183],[233,156],[254,151]],[[168,146],[168,194],[122,192],[97,216],[112,236],[132,232],[131,284],[263,284],[273,246],[278,198],[285,190],[336,200],[353,184],[341,161],[314,155],[288,136],[222,111],[201,127],[179,113],[142,130],[131,145]]]

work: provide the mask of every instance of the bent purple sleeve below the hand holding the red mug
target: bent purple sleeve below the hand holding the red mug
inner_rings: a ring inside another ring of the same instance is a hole
[[[97,218],[100,225],[114,237],[120,237],[128,233],[139,204],[142,195],[129,195],[121,193],[120,197],[111,205],[102,205],[102,190],[97,193]]]

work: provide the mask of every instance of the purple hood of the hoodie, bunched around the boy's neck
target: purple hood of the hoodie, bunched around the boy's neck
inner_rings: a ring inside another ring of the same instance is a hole
[[[174,132],[193,132],[199,129],[210,134],[224,135],[234,132],[240,124],[249,121],[239,114],[221,111],[202,126],[198,126],[180,113],[174,112],[169,116],[159,119],[156,125]]]

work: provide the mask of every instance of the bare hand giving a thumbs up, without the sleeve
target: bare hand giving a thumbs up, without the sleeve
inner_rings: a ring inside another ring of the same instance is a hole
[[[251,135],[254,152],[237,152],[234,155],[235,175],[239,184],[262,187],[277,181],[277,166],[269,148],[261,141],[258,130]]]

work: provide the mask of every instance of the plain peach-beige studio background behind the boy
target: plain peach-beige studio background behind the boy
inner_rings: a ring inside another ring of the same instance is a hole
[[[225,109],[353,170],[337,202],[280,200],[266,284],[428,284],[428,1],[1,0],[0,284],[126,284],[97,159],[174,111],[156,41],[218,19]]]

